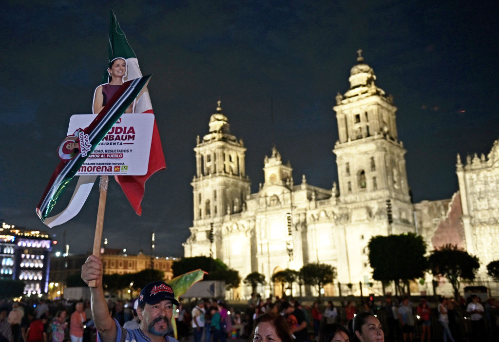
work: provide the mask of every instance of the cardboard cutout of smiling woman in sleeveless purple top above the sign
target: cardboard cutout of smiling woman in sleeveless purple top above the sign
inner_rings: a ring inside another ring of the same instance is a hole
[[[107,68],[109,73],[108,83],[101,84],[95,89],[92,112],[94,114],[99,114],[106,103],[113,97],[113,95],[118,91],[118,89],[123,84],[123,80],[127,75],[127,65],[126,61],[122,57],[117,57],[109,62],[109,67]],[[133,113],[133,106],[135,101],[128,107],[125,113]]]

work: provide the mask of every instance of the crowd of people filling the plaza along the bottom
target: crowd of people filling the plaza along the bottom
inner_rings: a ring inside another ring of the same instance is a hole
[[[270,297],[262,300],[259,295],[252,295],[246,306],[240,304],[229,308],[226,302],[214,299],[179,303],[173,298],[173,290],[168,285],[156,283],[149,297],[157,296],[161,289],[168,290],[167,309],[173,309],[172,304],[177,305],[177,314],[171,314],[176,317],[178,340],[181,342],[190,339],[194,342],[227,342],[234,338],[253,342],[385,339],[405,342],[415,341],[416,337],[421,342],[458,342],[463,339],[497,341],[498,337],[498,303],[489,300],[484,305],[476,295],[469,298],[469,303],[463,298],[459,301],[441,298],[435,305],[423,298],[419,304],[413,304],[409,297],[395,299],[387,295],[384,303],[375,304],[372,299],[362,302],[352,300],[341,306],[335,306],[332,301],[302,305],[293,298]],[[141,293],[134,305],[133,301],[105,300],[99,293],[97,298],[103,305],[97,309],[102,317],[97,314],[95,325],[90,301],[2,302],[0,342],[93,342],[96,330],[103,329],[103,322],[107,322],[105,331],[116,328],[115,333],[120,336],[124,336],[126,331],[149,329],[147,326],[141,328],[145,303],[156,304],[152,299],[147,302],[149,297]],[[152,307],[155,308],[154,305]],[[460,315],[469,320],[466,329],[462,326],[464,321],[460,321]],[[162,319],[152,317],[149,321],[162,323],[164,327],[160,333],[173,339],[170,324],[166,323],[172,316],[163,314],[159,316]],[[111,335],[113,339],[116,336]],[[100,339],[99,342],[106,341]]]

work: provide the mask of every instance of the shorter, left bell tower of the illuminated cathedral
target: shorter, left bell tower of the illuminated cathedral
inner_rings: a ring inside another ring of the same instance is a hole
[[[197,138],[196,175],[191,185],[194,194],[194,226],[220,223],[226,214],[243,211],[250,194],[250,179],[245,171],[243,140],[231,134],[229,120],[222,113],[221,101],[210,118],[209,133]]]

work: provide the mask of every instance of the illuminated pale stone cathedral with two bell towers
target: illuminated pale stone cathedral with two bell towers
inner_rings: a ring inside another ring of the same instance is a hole
[[[185,257],[220,258],[242,278],[251,272],[265,275],[267,284],[274,273],[286,268],[299,270],[309,263],[327,263],[337,270],[335,283],[348,285],[350,290],[356,284],[358,291],[365,286],[367,293],[378,292],[372,285],[366,247],[372,236],[415,232],[423,235],[429,251],[454,242],[472,253],[477,253],[482,243],[474,224],[489,238],[499,236],[497,222],[493,228],[483,224],[499,217],[489,213],[497,211],[498,205],[493,207],[491,202],[482,210],[487,211],[482,213],[484,219],[477,221],[470,211],[481,204],[470,206],[468,197],[461,199],[466,188],[466,196],[479,201],[480,194],[474,190],[484,178],[476,174],[479,170],[487,169],[490,176],[484,181],[498,185],[498,143],[489,160],[468,158],[468,165],[463,166],[458,156],[461,195],[458,191],[450,200],[411,203],[406,151],[397,134],[397,108],[392,96],[376,85],[373,69],[358,53],[357,64],[350,71],[350,88],[343,95],[338,93],[333,107],[339,133],[333,150],[338,184],[330,189],[309,184],[304,175],[293,179],[291,166],[282,163],[274,147],[263,160],[264,181],[258,192],[251,193],[245,172],[246,148],[242,139],[231,134],[218,102],[209,133],[198,137],[194,148],[194,221],[183,244]],[[495,171],[490,171],[493,165]],[[497,202],[497,191],[494,198]],[[411,287],[418,290],[416,283]],[[280,289],[280,285],[261,288],[265,295],[277,296],[282,295]],[[241,295],[247,296],[249,291],[245,289]],[[326,295],[339,291],[339,285],[325,288]]]

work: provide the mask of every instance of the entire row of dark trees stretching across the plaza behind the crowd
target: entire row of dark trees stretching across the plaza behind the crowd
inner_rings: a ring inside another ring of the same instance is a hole
[[[374,236],[368,244],[369,262],[373,268],[373,279],[387,286],[394,282],[399,293],[409,293],[409,281],[422,278],[425,272],[434,277],[445,277],[451,283],[454,294],[459,295],[461,282],[472,282],[480,268],[479,259],[468,254],[463,249],[446,245],[432,251],[427,256],[426,243],[423,238],[414,233],[400,235]],[[227,289],[237,288],[241,283],[239,272],[230,269],[220,259],[205,256],[183,258],[175,261],[172,266],[174,277],[184,273],[202,269],[207,271],[205,280],[223,280]],[[488,274],[499,281],[499,260],[487,265]],[[317,289],[319,296],[325,284],[332,283],[337,277],[336,268],[328,264],[308,264],[299,271],[285,269],[272,275],[270,281],[280,284],[282,293],[291,290],[293,284],[298,284],[301,296],[301,286],[309,285]],[[123,289],[140,290],[149,282],[163,279],[164,272],[147,269],[131,274],[104,275],[103,282],[108,291],[116,292]],[[246,285],[255,292],[258,285],[266,285],[263,274],[252,272],[244,279]],[[434,281],[434,286],[438,284]],[[67,286],[85,286],[80,275],[70,276]]]

